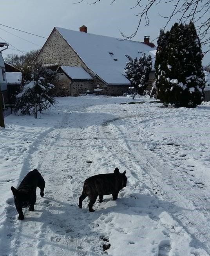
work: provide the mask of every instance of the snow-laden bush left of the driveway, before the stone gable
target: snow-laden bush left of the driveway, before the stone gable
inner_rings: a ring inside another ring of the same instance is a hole
[[[40,76],[42,75],[42,76]],[[56,103],[52,89],[54,85],[50,83],[55,72],[47,70],[39,66],[34,70],[31,76],[31,81],[28,81],[22,90],[16,96],[15,111],[20,114],[30,115],[34,114],[37,118],[37,112],[49,109]]]

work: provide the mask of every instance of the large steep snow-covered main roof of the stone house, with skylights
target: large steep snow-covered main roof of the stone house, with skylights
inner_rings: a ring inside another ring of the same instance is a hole
[[[130,84],[124,68],[129,59],[143,53],[154,57],[154,50],[142,42],[94,35],[56,27],[57,31],[80,56],[83,62],[108,84]],[[154,62],[154,59],[153,59]]]

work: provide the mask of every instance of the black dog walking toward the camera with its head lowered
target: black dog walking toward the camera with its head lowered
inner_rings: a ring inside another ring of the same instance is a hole
[[[11,187],[14,195],[14,204],[19,214],[18,219],[24,219],[22,207],[29,206],[29,211],[34,211],[34,204],[36,203],[36,187],[40,188],[40,195],[43,197],[45,181],[37,169],[29,171],[20,183],[18,189]]]

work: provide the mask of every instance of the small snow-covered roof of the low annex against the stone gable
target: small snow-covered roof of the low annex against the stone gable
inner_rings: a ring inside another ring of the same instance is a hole
[[[83,79],[92,80],[90,76],[82,67],[71,67],[71,66],[60,66],[60,68],[65,72],[71,79]]]

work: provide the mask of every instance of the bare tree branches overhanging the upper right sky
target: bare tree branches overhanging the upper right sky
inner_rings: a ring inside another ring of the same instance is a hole
[[[100,2],[100,0],[86,1],[88,2],[88,4],[96,4]],[[110,4],[114,4],[114,2],[117,1],[119,2],[119,0],[110,0]],[[81,2],[85,2],[85,0],[79,0],[77,3]],[[173,18],[177,18],[178,23],[185,23],[192,20],[196,26],[197,33],[201,40],[201,44],[207,47],[210,46],[210,0],[136,0],[134,6],[131,7],[132,9],[136,8],[139,10],[139,13],[136,14],[136,16],[139,17],[136,29],[131,35],[125,35],[122,32],[121,35],[126,39],[131,39],[132,37],[134,37],[140,25],[143,23],[143,20],[145,21],[145,24],[147,26],[149,25],[150,11],[156,8],[158,13],[158,7],[163,2],[165,5],[172,6],[172,11],[169,14],[167,13],[165,17],[160,15],[161,17],[166,18],[165,26],[163,27],[163,29],[167,27],[168,23]],[[206,52],[209,51],[210,50],[207,50]]]

